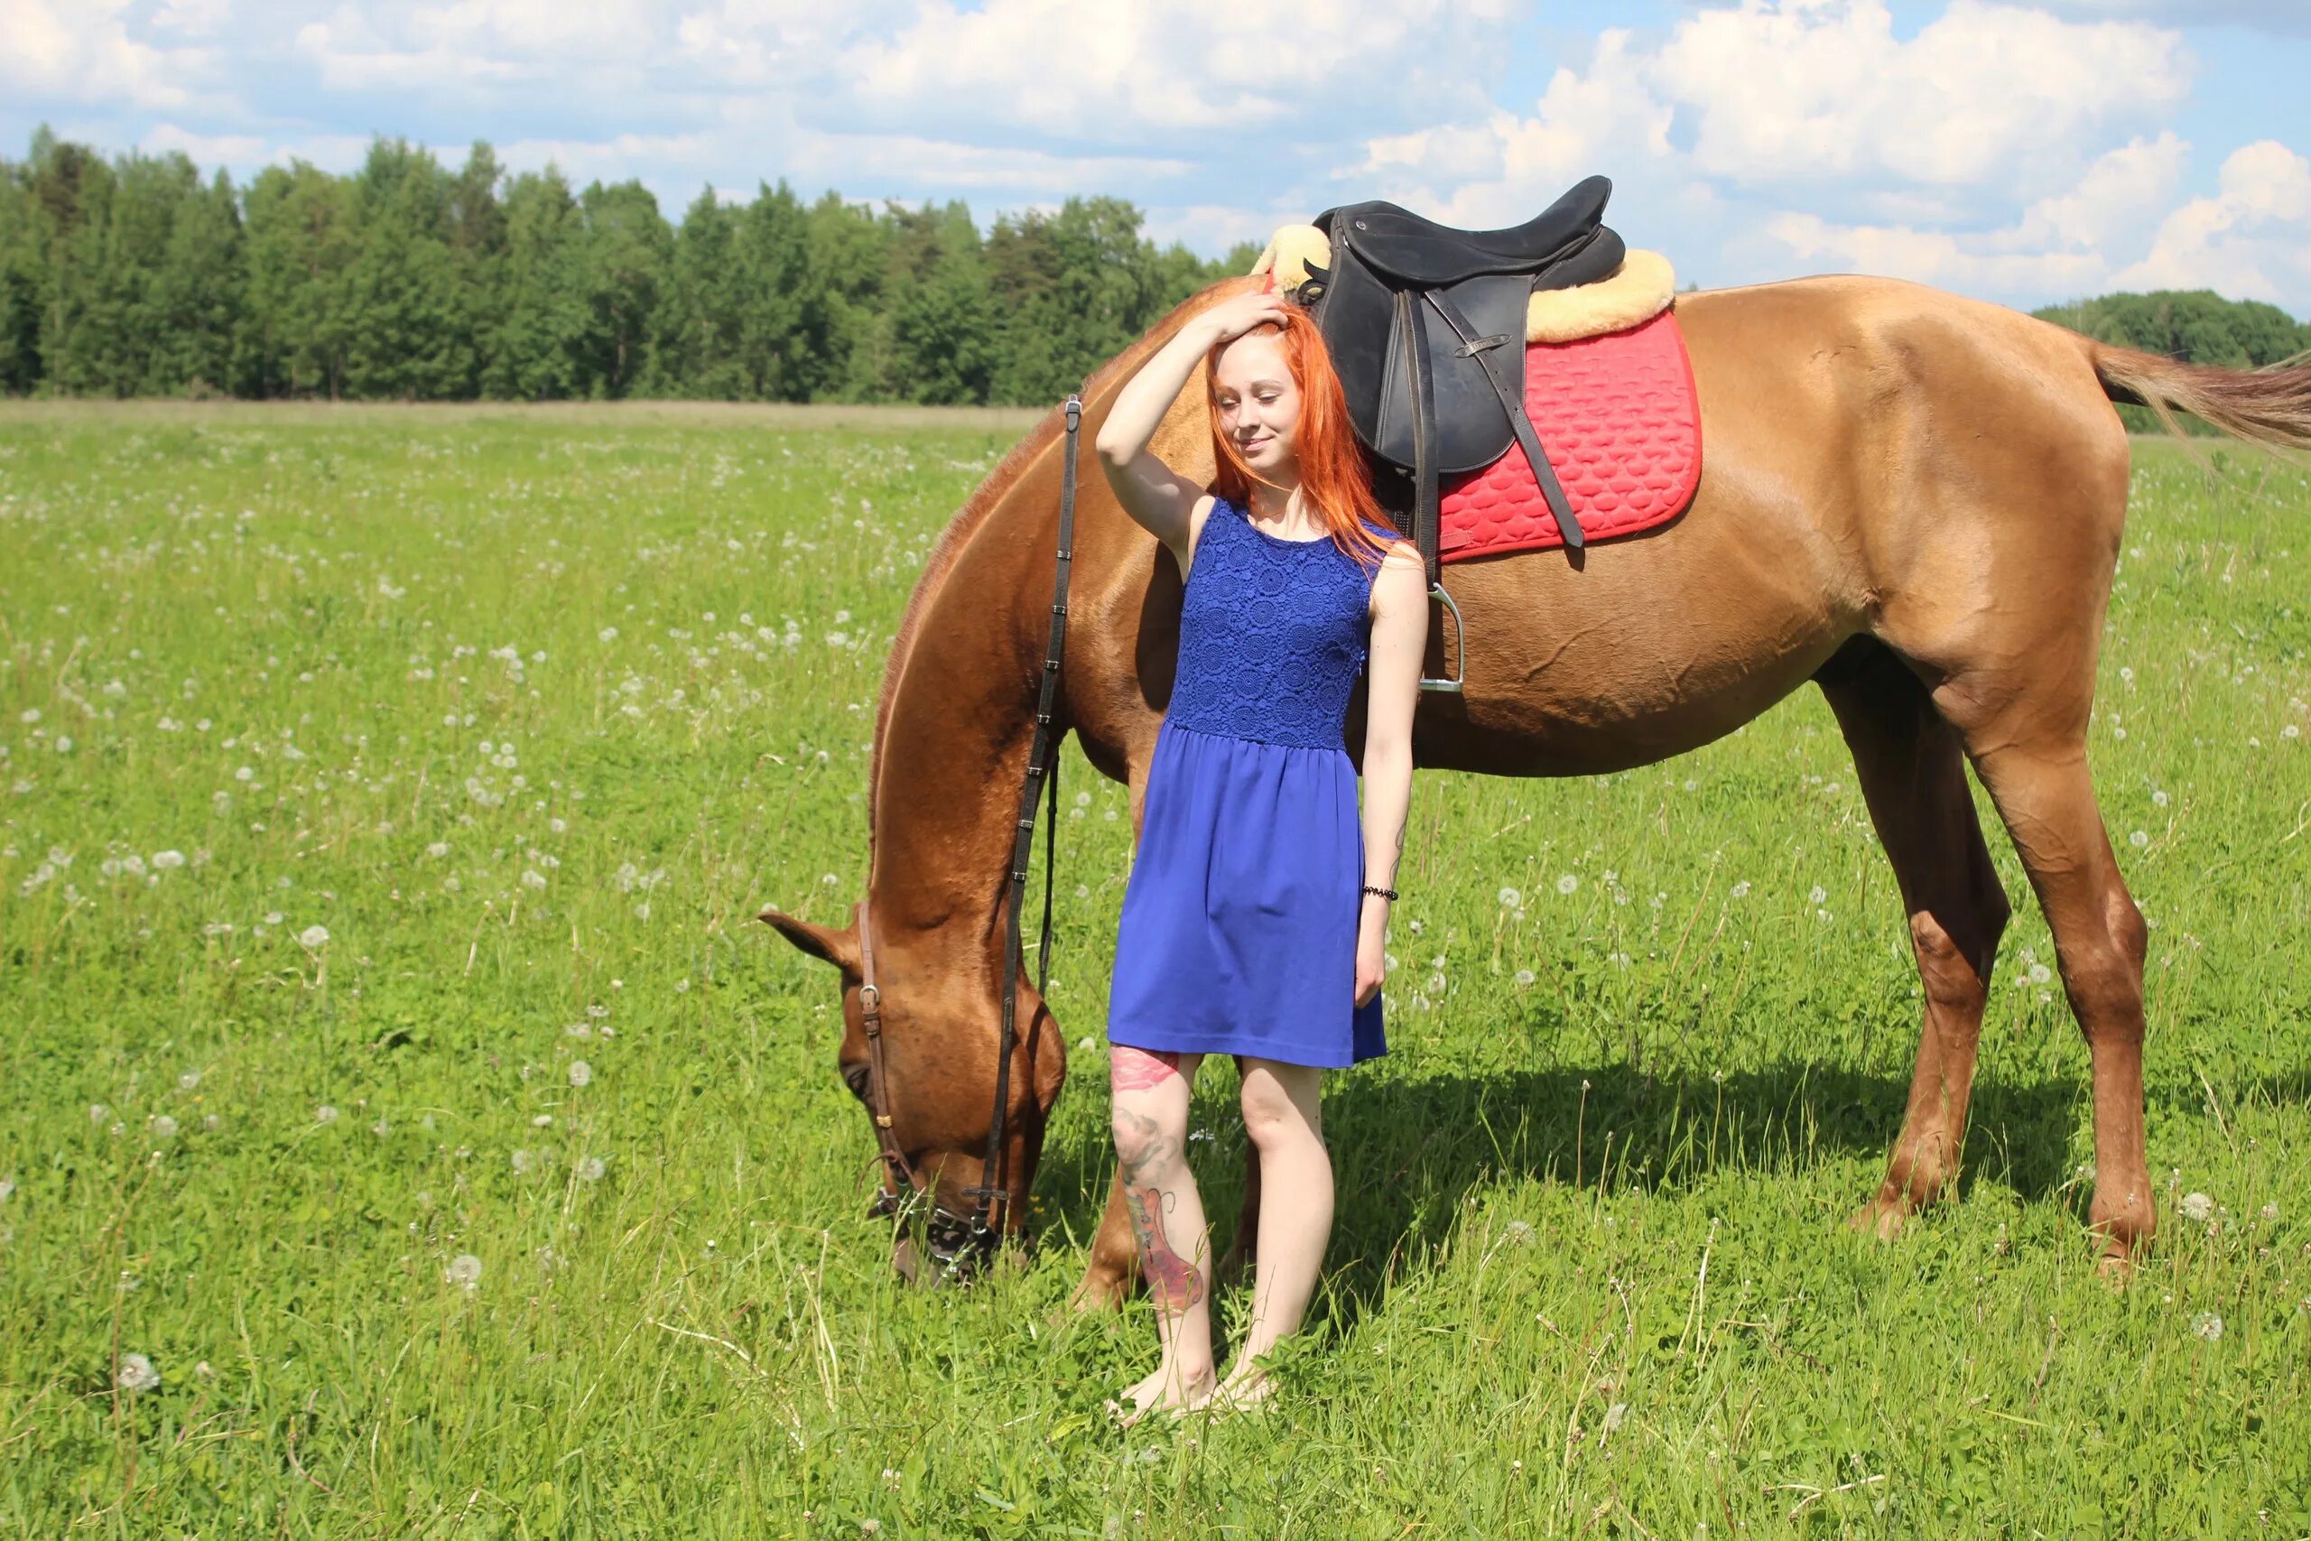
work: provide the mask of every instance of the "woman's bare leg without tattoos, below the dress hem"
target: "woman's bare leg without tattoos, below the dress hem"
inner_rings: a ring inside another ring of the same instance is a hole
[[[1253,1324],[1220,1386],[1223,1400],[1266,1395],[1257,1358],[1299,1331],[1331,1241],[1331,1153],[1317,1111],[1317,1065],[1243,1060],[1243,1132],[1259,1151],[1259,1250],[1253,1278]]]

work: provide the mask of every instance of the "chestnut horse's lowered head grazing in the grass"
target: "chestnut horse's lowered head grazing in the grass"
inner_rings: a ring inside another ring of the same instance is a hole
[[[996,1227],[987,1227],[984,1188],[996,1181],[987,1134],[1003,1019],[998,954],[957,956],[945,938],[892,924],[867,903],[839,931],[774,908],[758,920],[841,975],[837,1072],[876,1139],[880,1185],[869,1213],[901,1218],[892,1266],[934,1285],[975,1273],[1003,1234],[1026,1229],[1045,1118],[1065,1077],[1058,1023],[1035,984],[1021,977],[1017,987],[1003,1201]]]

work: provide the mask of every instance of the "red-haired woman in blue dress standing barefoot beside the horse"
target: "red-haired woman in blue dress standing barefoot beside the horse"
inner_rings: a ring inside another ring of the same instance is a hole
[[[1204,367],[1211,492],[1149,453]],[[1162,1361],[1112,1405],[1250,1405],[1331,1234],[1317,1079],[1387,1049],[1380,977],[1412,797],[1428,594],[1373,501],[1331,358],[1273,293],[1190,319],[1098,434],[1107,483],[1186,580],[1179,677],[1149,762],[1109,1000],[1114,1137]],[[1363,813],[1343,746],[1368,675]],[[1359,892],[1361,885],[1361,892]],[[1259,1151],[1253,1319],[1225,1382],[1211,1354],[1211,1238],[1183,1160],[1206,1054],[1243,1067]]]

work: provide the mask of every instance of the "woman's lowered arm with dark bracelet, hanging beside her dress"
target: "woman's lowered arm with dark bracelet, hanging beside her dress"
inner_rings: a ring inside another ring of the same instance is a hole
[[[1403,541],[1373,575],[1373,642],[1363,665],[1363,880],[1396,887],[1412,811],[1412,712],[1428,645],[1428,573]],[[1357,1005],[1387,973],[1389,901],[1363,894],[1357,922]]]

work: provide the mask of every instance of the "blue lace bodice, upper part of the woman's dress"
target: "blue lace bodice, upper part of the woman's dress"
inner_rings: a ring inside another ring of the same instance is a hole
[[[1394,538],[1380,524],[1375,534]],[[1262,744],[1340,749],[1370,640],[1373,571],[1331,536],[1285,541],[1218,499],[1188,564],[1165,721]]]

